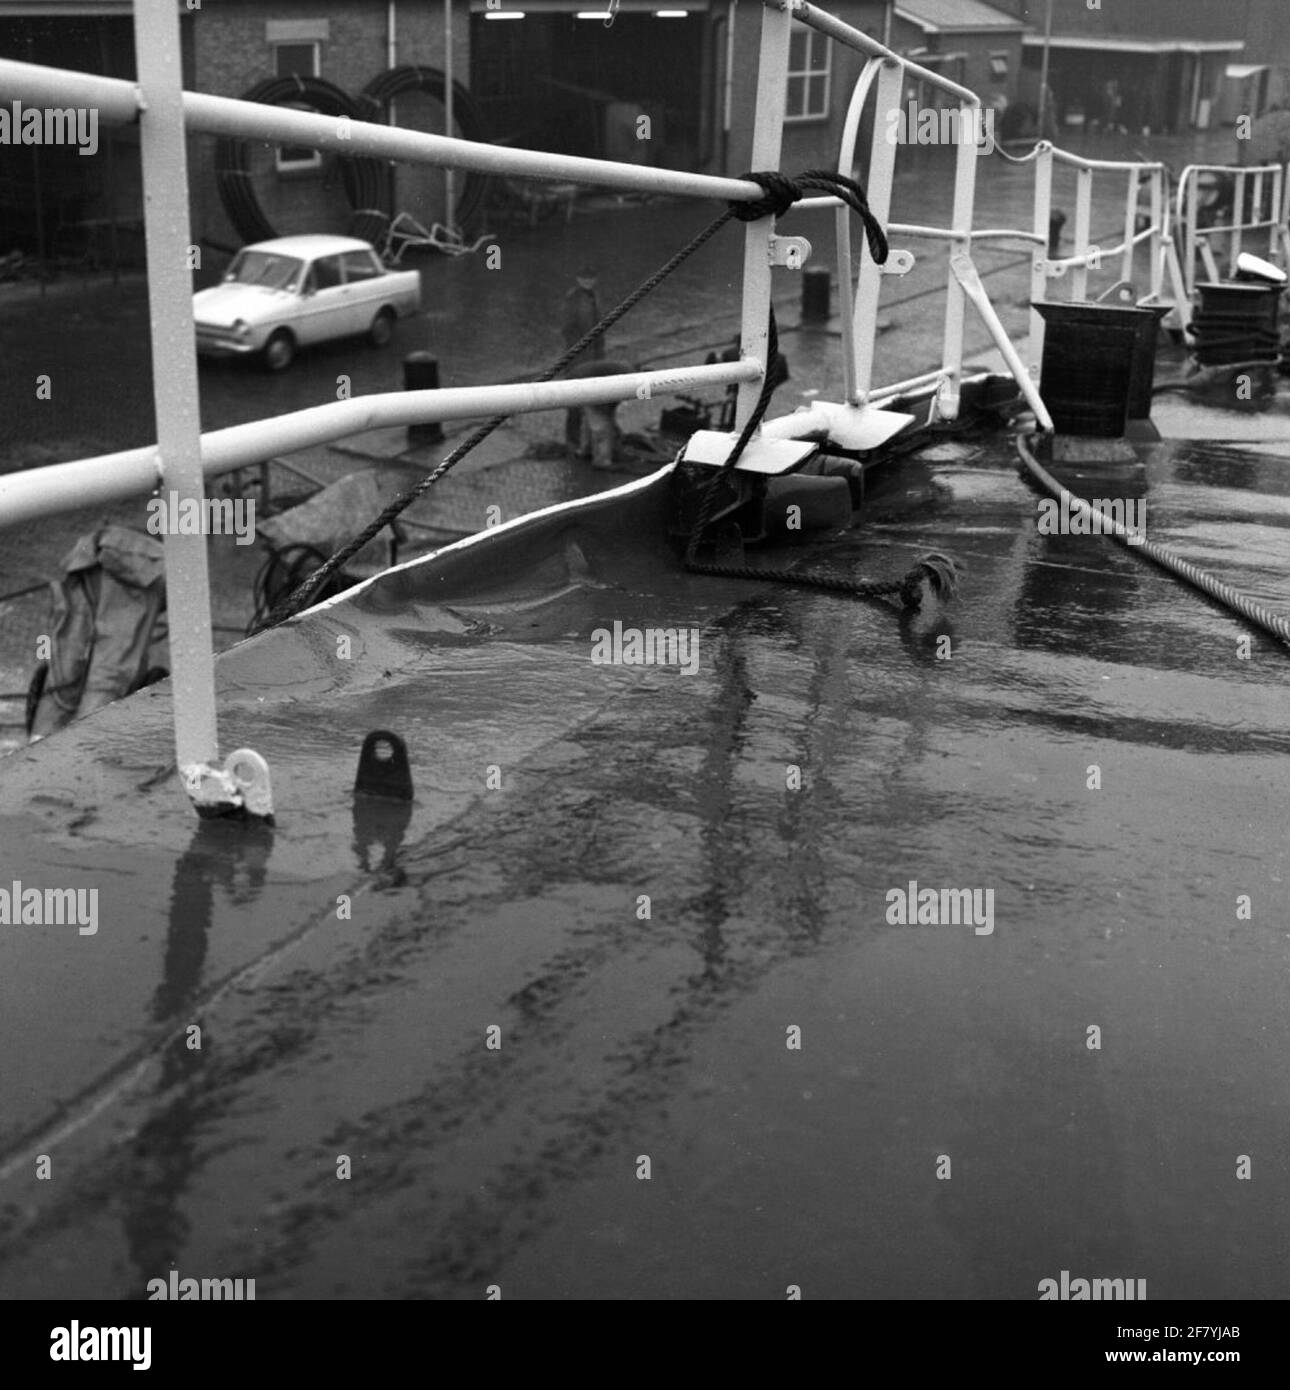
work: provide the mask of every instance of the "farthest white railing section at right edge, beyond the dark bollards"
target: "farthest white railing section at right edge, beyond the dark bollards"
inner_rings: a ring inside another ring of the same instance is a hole
[[[1195,289],[1197,264],[1209,279],[1222,279],[1215,243],[1229,239],[1227,274],[1236,274],[1236,263],[1247,232],[1266,236],[1266,256],[1271,261],[1290,265],[1290,165],[1258,164],[1241,168],[1227,164],[1189,164],[1177,181],[1176,215],[1182,240],[1183,284],[1187,295]],[[1200,225],[1202,175],[1232,179],[1232,221]],[[1248,200],[1247,200],[1248,193]],[[1264,208],[1266,207],[1266,211]],[[1250,215],[1247,217],[1247,208]],[[1252,240],[1254,238],[1251,238]]]

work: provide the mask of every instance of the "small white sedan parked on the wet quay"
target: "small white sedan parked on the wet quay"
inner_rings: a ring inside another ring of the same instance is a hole
[[[391,271],[368,242],[352,236],[278,236],[243,246],[224,279],[193,295],[197,352],[263,353],[271,371],[296,349],[366,334],[378,348],[395,320],[421,307],[421,277]]]

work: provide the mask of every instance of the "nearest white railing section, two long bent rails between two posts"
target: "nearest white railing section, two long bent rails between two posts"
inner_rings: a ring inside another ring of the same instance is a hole
[[[31,106],[88,107],[97,111],[103,124],[139,126],[153,363],[165,364],[164,370],[153,373],[157,446],[83,459],[0,480],[0,527],[147,493],[163,484],[177,495],[181,505],[196,503],[200,507],[206,475],[382,424],[424,424],[610,403],[645,393],[731,382],[741,388],[738,409],[741,418],[746,420],[759,393],[758,384],[766,371],[770,218],[748,225],[745,247],[753,254],[746,257],[744,353],[737,363],[582,381],[367,396],[200,435],[192,282],[186,268],[190,228],[185,128],[309,146],[345,156],[367,154],[521,178],[571,179],[623,192],[748,202],[762,197],[763,190],[742,179],[516,150],[345,117],[185,93],[179,78],[179,19],[172,0],[136,0],[133,19],[138,83],[0,60],[0,90],[7,99],[18,99]],[[787,14],[781,24],[776,24],[771,17],[762,43],[756,143],[758,156],[763,160],[760,167],[765,168],[778,164],[787,88],[788,22]],[[767,107],[777,107],[778,122],[766,118]],[[185,790],[199,812],[252,806],[252,785],[243,776],[247,767],[254,771],[257,755],[243,749],[232,755],[225,767],[217,766],[218,731],[204,537],[167,535],[165,575],[171,610],[175,756]],[[271,809],[271,798],[267,767],[263,760],[259,763],[266,781],[256,788],[254,805],[259,813],[264,813],[266,808]]]

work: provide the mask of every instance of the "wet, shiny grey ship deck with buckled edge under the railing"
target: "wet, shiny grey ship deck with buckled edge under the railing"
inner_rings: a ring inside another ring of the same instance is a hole
[[[1284,457],[1130,473],[1148,534],[1290,609]],[[0,1293],[142,1297],[174,1264],[260,1298],[1290,1294],[1286,652],[1038,537],[1002,443],[778,556],[959,556],[913,621],[685,575],[662,506],[221,657],[271,835],[157,778],[164,687],[0,766],[0,880],[101,898],[95,937],[0,929]],[[694,624],[696,674],[594,666],[614,620]],[[378,727],[406,824],[353,815]],[[909,880],[993,890],[993,934],[888,924]]]

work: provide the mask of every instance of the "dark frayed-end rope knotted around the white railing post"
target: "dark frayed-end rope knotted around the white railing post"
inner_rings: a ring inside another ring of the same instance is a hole
[[[681,247],[664,265],[660,265],[648,279],[645,279],[637,289],[634,289],[621,303],[616,304],[605,317],[594,327],[589,328],[567,352],[564,352],[546,371],[537,378],[537,381],[550,381],[559,373],[562,373],[570,363],[573,363],[581,353],[591,346],[598,338],[606,334],[624,314],[634,309],[652,289],[658,288],[683,261],[692,256],[705,242],[715,236],[728,221],[738,220],[741,222],[753,222],[762,217],[780,217],[792,207],[794,203],[799,202],[808,190],[828,193],[834,197],[841,199],[863,222],[865,239],[869,243],[869,250],[873,259],[881,265],[887,260],[888,246],[887,235],[883,231],[879,220],[873,215],[869,207],[869,199],[865,189],[855,179],[847,178],[844,174],[834,174],[828,170],[806,170],[797,178],[788,178],[778,172],[753,172],[742,175],[744,179],[749,182],[759,183],[765,190],[766,196],[759,199],[752,199],[746,203],[731,203],[724,213],[713,218],[708,227],[703,228],[696,236],[694,236],[685,246]],[[769,342],[767,342],[767,371],[762,382],[762,393],[758,398],[758,403],[753,407],[748,423],[735,441],[735,445],[730,453],[730,457],[721,466],[720,470],[713,475],[713,486],[720,481],[720,474],[727,468],[733,468],[744,449],[748,446],[749,439],[758,430],[762,417],[766,413],[766,407],[770,404],[770,396],[773,388],[770,386],[770,371],[769,364],[774,360],[774,353],[778,350],[778,335],[774,324],[774,311],[770,314],[769,327]],[[309,606],[313,596],[317,594],[320,587],[327,582],[327,580],[336,574],[345,564],[346,560],[352,559],[359,550],[367,545],[375,535],[378,535],[391,521],[393,521],[402,512],[405,512],[417,498],[423,496],[430,488],[432,488],[439,478],[443,477],[449,468],[455,467],[462,459],[466,457],[477,445],[482,443],[499,425],[505,424],[510,416],[495,416],[487,424],[475,430],[463,443],[457,445],[452,453],[448,455],[434,470],[431,470],[416,486],[410,488],[407,492],[400,493],[393,499],[381,513],[374,517],[368,525],[366,525],[356,537],[348,541],[335,555],[332,555],[322,566],[314,570],[296,589],[288,594],[282,600],[279,600],[272,612],[266,617],[264,623],[256,628],[256,631],[264,631],[271,627],[277,627],[279,623],[285,623],[289,617],[293,617],[303,607]],[[801,573],[780,573],[770,570],[752,570],[744,567],[721,567],[721,566],[705,566],[699,564],[694,559],[694,552],[699,543],[701,534],[708,525],[708,517],[705,513],[710,513],[713,506],[713,492],[709,489],[705,498],[701,512],[699,524],[695,527],[695,532],[689,539],[687,548],[685,563],[689,569],[696,570],[703,574],[728,574],[742,578],[771,578],[780,580],[787,584],[809,584],[816,588],[828,588],[838,592],[852,594],[856,598],[879,598],[885,594],[901,594],[902,599],[909,607],[917,607],[917,595],[922,592],[922,581],[927,580],[936,592],[949,595],[954,592],[958,566],[954,560],[947,559],[940,555],[929,555],[919,566],[911,570],[904,578],[895,581],[854,581],[854,580],[838,580],[831,575],[815,575],[815,574],[801,574]]]

